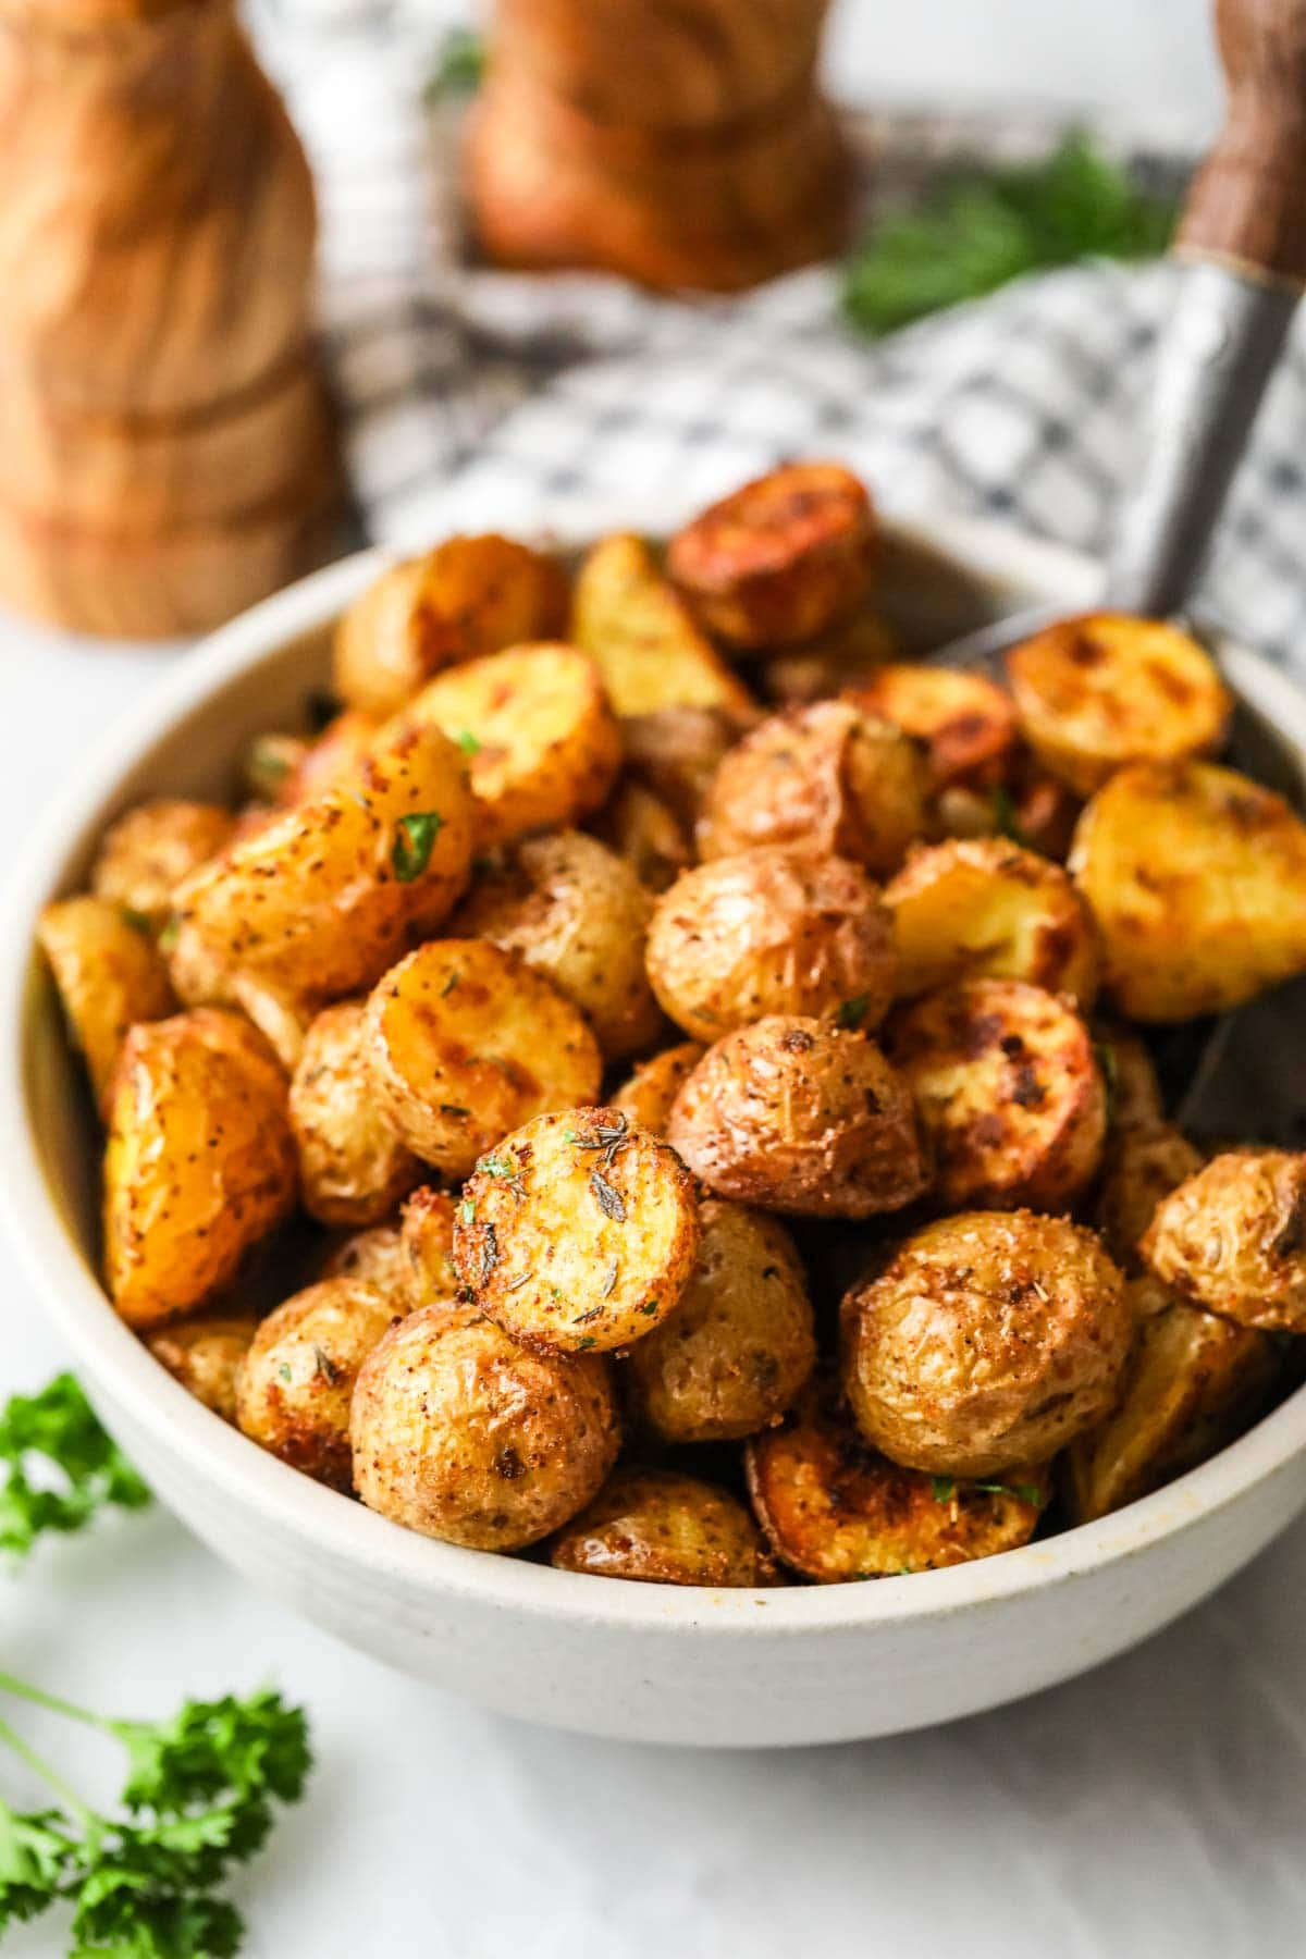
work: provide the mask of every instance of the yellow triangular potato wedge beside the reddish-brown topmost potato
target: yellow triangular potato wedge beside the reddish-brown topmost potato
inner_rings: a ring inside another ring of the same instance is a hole
[[[587,554],[576,578],[572,639],[603,674],[619,715],[752,705],[642,537],[617,533]]]

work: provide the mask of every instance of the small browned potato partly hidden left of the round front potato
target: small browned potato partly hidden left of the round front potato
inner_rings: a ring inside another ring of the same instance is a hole
[[[323,1279],[268,1313],[235,1377],[241,1434],[292,1469],[349,1489],[354,1381],[399,1311],[374,1285]]]

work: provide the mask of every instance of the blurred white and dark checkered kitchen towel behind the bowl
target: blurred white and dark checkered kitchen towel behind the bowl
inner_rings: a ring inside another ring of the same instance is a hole
[[[828,270],[736,302],[462,261],[448,129],[421,84],[429,0],[251,0],[323,208],[323,310],[362,519],[450,527],[685,507],[785,454],[838,454],[901,515],[963,509],[1100,550],[1138,454],[1149,351],[1183,274],[1091,264],[867,347]],[[1048,127],[889,119],[875,192]],[[1306,325],[1273,384],[1200,609],[1306,664]]]

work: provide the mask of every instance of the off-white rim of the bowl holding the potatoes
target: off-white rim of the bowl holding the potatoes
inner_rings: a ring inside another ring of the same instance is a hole
[[[662,503],[642,511],[630,527],[668,531],[681,515],[679,507],[670,511]],[[558,541],[580,543],[611,529],[611,521],[607,509],[580,513]],[[1091,558],[1006,525],[946,515],[893,527],[983,578],[1012,584],[1028,596],[1061,599],[1067,609],[1093,603],[1098,588],[1098,566]],[[443,1544],[394,1524],[255,1448],[159,1365],[112,1311],[41,1168],[27,1101],[35,917],[67,885],[69,862],[104,821],[139,754],[176,721],[204,707],[221,686],[260,666],[290,641],[327,627],[390,558],[390,552],[370,549],[313,572],[210,635],[170,674],[149,686],[41,815],[0,901],[0,1154],[6,1164],[0,1211],[22,1266],[76,1362],[86,1367],[92,1401],[102,1391],[129,1428],[163,1456],[180,1457],[196,1481],[208,1481],[245,1512],[262,1512],[272,1528],[303,1540],[337,1567],[347,1561],[360,1583],[397,1581],[411,1597],[476,1599],[488,1608],[527,1612],[554,1624],[662,1634],[691,1634],[711,1624],[713,1630],[754,1640],[869,1632],[1061,1587],[1143,1555],[1286,1471],[1306,1450],[1306,1389],[1155,1495],[1014,1552],[912,1573],[910,1587],[895,1579],[768,1591],[615,1585],[521,1557]],[[1284,733],[1306,744],[1306,693],[1247,648],[1222,645],[1222,658],[1234,688],[1249,693]],[[166,1501],[166,1489],[161,1497]]]

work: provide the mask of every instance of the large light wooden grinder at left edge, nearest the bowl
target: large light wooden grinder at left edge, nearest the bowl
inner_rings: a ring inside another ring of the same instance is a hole
[[[313,188],[231,0],[0,0],[0,603],[196,633],[335,541]]]

